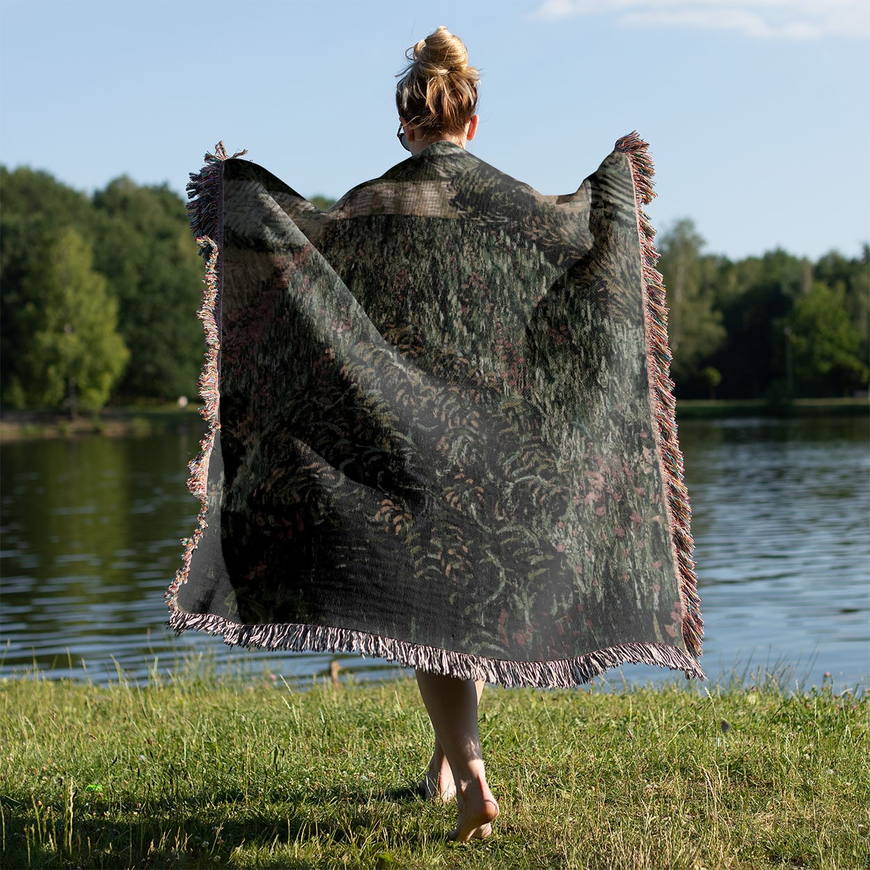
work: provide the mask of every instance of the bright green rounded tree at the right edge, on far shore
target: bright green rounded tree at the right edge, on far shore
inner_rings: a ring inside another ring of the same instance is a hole
[[[788,318],[794,379],[821,395],[848,394],[867,383],[867,365],[860,357],[861,332],[847,310],[842,286],[817,281],[798,299]]]

